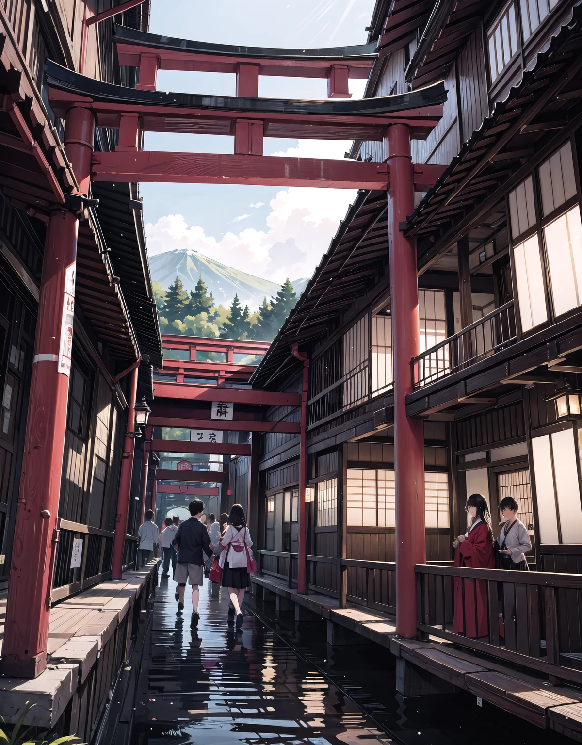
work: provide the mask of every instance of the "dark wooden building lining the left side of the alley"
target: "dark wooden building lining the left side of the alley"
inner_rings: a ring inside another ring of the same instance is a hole
[[[7,589],[13,553],[49,215],[63,200],[69,209],[79,206],[62,144],[64,122],[48,104],[44,66],[50,59],[133,86],[135,73],[121,68],[114,54],[113,31],[116,22],[146,31],[149,3],[92,22],[97,10],[111,5],[0,3],[0,591]],[[97,128],[92,144],[95,150],[113,150],[116,136]],[[53,602],[110,576],[122,444],[128,405],[133,408],[130,376],[118,381],[116,376],[142,355],[137,396],[151,399],[151,365],[162,364],[138,185],[98,183],[90,197],[81,205],[78,227]],[[143,438],[136,443],[141,455]],[[131,536],[142,513],[141,472],[136,457],[126,566],[135,561]],[[80,563],[72,566],[79,539]]]

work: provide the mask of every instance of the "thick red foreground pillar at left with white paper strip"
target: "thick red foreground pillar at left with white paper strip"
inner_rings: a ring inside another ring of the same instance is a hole
[[[92,112],[69,111],[65,150],[84,194],[89,188],[94,131]],[[51,212],[10,562],[1,659],[1,672],[7,676],[32,678],[46,667],[75,314],[77,235],[77,215],[66,209]]]

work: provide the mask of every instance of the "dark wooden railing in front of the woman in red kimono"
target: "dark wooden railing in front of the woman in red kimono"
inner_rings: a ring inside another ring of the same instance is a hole
[[[426,564],[416,572],[423,635],[582,683],[582,574]],[[476,629],[475,611],[482,621]]]

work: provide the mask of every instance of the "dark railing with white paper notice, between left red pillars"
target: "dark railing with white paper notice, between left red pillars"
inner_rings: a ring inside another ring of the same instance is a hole
[[[92,525],[69,520],[60,521],[59,540],[54,557],[51,593],[53,603],[75,595],[76,592],[109,577],[113,536],[114,533],[109,530],[100,530]],[[73,561],[74,555],[76,561]]]

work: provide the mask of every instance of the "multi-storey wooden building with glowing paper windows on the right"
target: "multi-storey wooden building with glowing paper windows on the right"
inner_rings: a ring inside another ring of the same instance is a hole
[[[581,34],[582,8],[567,0],[379,0],[370,22],[379,59],[366,97],[443,77],[448,90],[440,123],[411,142],[413,162],[446,171],[399,226],[417,241],[421,353],[406,412],[424,426],[428,562],[452,559],[466,497],[481,492],[494,530],[501,498],[519,501],[532,569],[582,570]],[[349,154],[385,159],[382,142],[356,141]],[[388,241],[385,192],[358,192],[252,378],[300,392],[291,345],[308,352],[314,557],[395,559]],[[299,456],[299,437],[262,436],[265,550],[297,552]],[[283,577],[297,577],[291,563],[263,557]],[[337,565],[308,564],[312,588],[340,593]],[[366,596],[364,580],[348,567],[348,599]],[[379,590],[393,607],[390,580]]]

